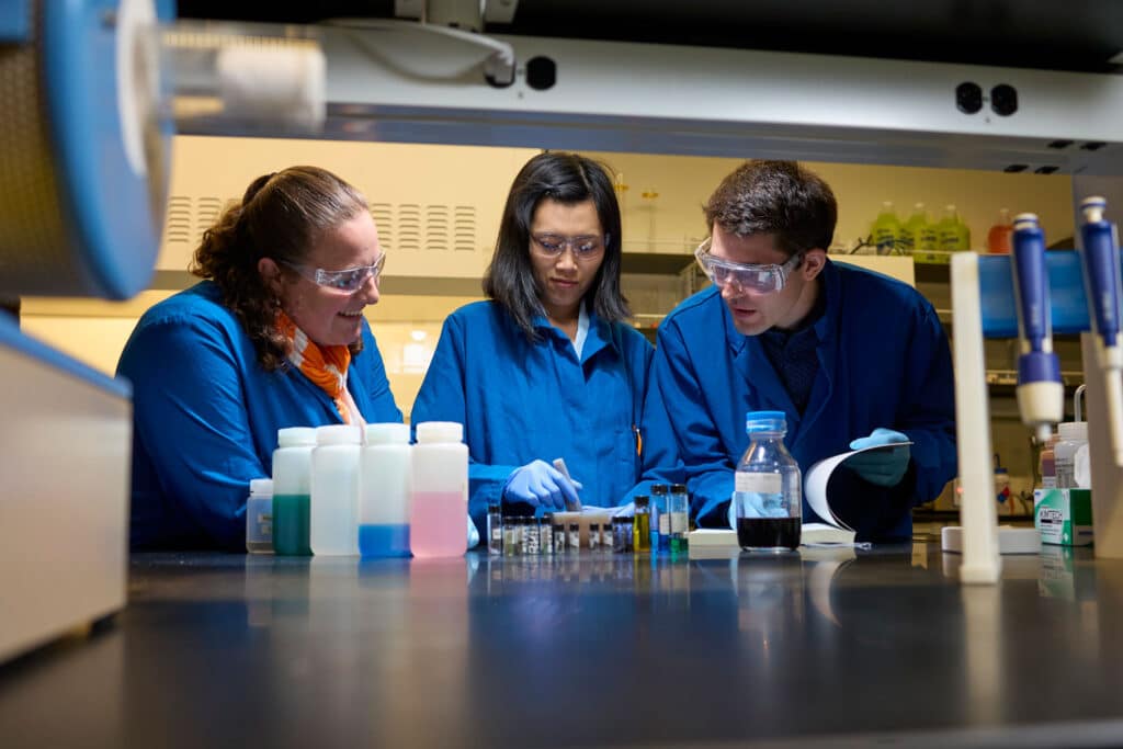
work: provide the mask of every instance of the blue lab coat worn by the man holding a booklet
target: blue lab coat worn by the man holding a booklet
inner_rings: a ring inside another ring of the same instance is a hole
[[[860,540],[907,538],[914,504],[956,474],[951,351],[935,310],[907,284],[827,262],[825,312],[814,323],[819,372],[804,413],[756,336],[733,327],[716,287],[694,294],[659,327],[655,380],[674,427],[700,526],[728,527],[733,471],[748,447],[745,413],[784,411],[785,445],[805,473],[877,427],[913,440],[901,485],[884,490],[842,472],[832,509]],[[818,520],[803,502],[804,522]]]

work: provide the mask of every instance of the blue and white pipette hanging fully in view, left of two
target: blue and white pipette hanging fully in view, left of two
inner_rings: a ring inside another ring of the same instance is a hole
[[[1011,270],[1021,342],[1015,390],[1017,409],[1022,421],[1044,442],[1052,424],[1065,415],[1065,385],[1052,347],[1044,234],[1034,213],[1014,217]]]

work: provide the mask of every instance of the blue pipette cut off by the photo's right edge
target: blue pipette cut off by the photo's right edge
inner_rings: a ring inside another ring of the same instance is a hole
[[[1096,357],[1104,375],[1107,417],[1115,465],[1123,466],[1123,340],[1120,336],[1123,281],[1120,272],[1119,236],[1104,219],[1107,201],[1099,197],[1080,201],[1080,259],[1088,294],[1088,318],[1096,336]]]

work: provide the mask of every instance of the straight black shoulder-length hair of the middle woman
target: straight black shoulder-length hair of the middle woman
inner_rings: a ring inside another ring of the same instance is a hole
[[[484,294],[502,304],[528,338],[537,338],[533,319],[545,314],[545,309],[530,264],[530,226],[546,198],[560,203],[593,200],[605,234],[604,259],[582,303],[606,322],[629,319],[631,310],[620,292],[620,203],[609,170],[579,154],[541,153],[519,171],[506,195],[495,254],[484,274]]]

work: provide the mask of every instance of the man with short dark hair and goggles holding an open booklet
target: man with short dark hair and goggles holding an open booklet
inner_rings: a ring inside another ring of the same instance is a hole
[[[951,353],[935,310],[904,283],[827,257],[834,195],[794,162],[747,162],[704,210],[711,236],[696,257],[714,285],[667,316],[652,364],[692,514],[729,522],[745,414],[775,410],[804,472],[911,440],[852,458],[831,494],[858,540],[909,538],[913,505],[956,473]],[[806,499],[803,518],[816,520]]]

